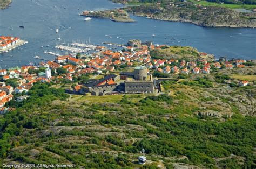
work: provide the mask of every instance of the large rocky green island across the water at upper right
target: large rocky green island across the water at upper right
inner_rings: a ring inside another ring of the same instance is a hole
[[[127,3],[127,1],[113,2]],[[192,2],[146,3],[127,6],[123,10],[136,16],[190,22],[205,27],[256,27],[255,12],[242,13],[231,8],[202,6]]]

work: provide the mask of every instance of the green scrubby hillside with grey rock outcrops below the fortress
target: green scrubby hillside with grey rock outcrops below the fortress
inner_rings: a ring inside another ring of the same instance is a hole
[[[256,99],[247,95],[255,87],[228,89],[207,79],[162,85],[163,95],[103,97],[67,97],[62,89],[35,85],[28,101],[0,118],[0,157],[3,163],[134,168],[142,167],[137,158],[145,149],[151,168],[256,167],[256,118],[243,114]]]

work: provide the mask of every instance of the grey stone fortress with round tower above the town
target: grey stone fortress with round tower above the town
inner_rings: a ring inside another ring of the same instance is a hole
[[[145,66],[137,66],[133,72],[110,74],[99,80],[91,79],[73,94],[91,93],[91,95],[102,96],[114,93],[154,93],[155,90],[156,79],[153,79]],[[71,92],[66,90],[66,93]]]

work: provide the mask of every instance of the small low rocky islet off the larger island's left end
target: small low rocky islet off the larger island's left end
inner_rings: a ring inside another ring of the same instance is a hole
[[[129,14],[122,9],[105,11],[83,11],[81,15],[94,18],[110,18],[114,22],[135,22],[129,17]]]

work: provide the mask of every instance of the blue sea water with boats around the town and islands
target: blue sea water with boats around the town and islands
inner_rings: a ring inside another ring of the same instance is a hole
[[[44,54],[44,50],[56,52],[56,44],[89,39],[93,44],[103,41],[125,44],[129,39],[152,40],[158,44],[193,46],[217,58],[256,59],[256,29],[206,28],[136,16],[131,16],[138,21],[136,23],[117,23],[97,18],[85,22],[83,16],[78,16],[82,10],[105,10],[120,6],[107,0],[14,0],[10,8],[0,10],[0,34],[18,36],[29,43],[20,49],[0,54],[0,60],[3,60],[0,66],[4,68],[5,65],[12,67],[38,62],[32,58],[33,55],[51,60],[54,57]],[[19,28],[21,25],[25,29]],[[10,31],[10,27],[14,30]],[[58,34],[55,32],[57,28]],[[152,34],[156,36],[152,37]],[[57,40],[59,37],[61,41]],[[10,58],[9,55],[14,57]]]

